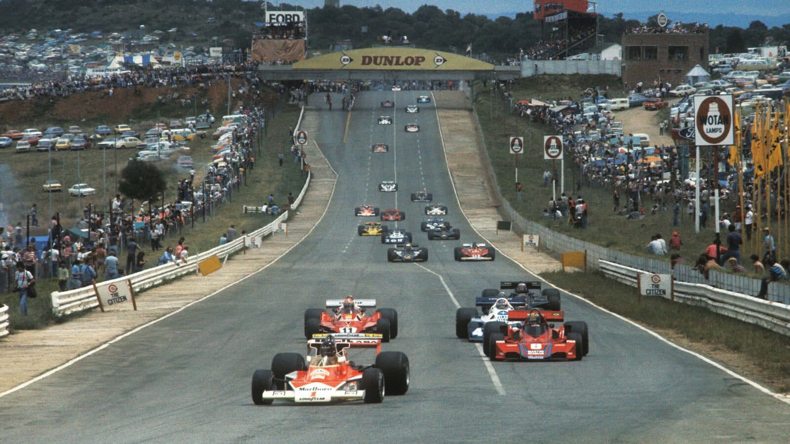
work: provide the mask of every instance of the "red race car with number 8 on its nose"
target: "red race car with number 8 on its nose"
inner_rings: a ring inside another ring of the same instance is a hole
[[[589,352],[586,322],[565,322],[562,311],[513,310],[508,321],[521,321],[520,326],[489,322],[483,329],[483,353],[492,361],[502,359],[580,361]],[[487,333],[487,334],[486,334]]]

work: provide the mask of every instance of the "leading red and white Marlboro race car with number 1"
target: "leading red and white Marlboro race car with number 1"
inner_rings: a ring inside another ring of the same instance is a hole
[[[408,357],[382,352],[381,335],[346,333],[316,335],[307,341],[307,358],[299,353],[277,353],[271,370],[252,376],[252,401],[272,404],[276,399],[299,403],[363,400],[378,403],[387,395],[408,391]],[[375,348],[375,363],[359,365],[348,359],[348,348]]]

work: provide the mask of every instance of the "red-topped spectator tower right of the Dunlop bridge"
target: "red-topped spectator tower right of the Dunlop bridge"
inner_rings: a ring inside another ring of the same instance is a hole
[[[534,0],[533,5],[532,17],[540,20],[541,42],[549,46],[541,58],[563,59],[596,47],[596,2]]]

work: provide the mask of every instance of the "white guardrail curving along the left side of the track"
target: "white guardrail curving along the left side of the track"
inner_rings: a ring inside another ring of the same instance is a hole
[[[299,114],[299,122],[296,123],[296,128],[299,128],[299,124],[302,122],[303,114],[304,108],[302,108],[302,113]],[[293,205],[291,205],[291,210],[295,210],[302,203],[304,194],[307,193],[307,186],[309,185],[310,171],[307,172],[307,180],[304,182],[304,186],[302,187],[302,191],[299,193],[299,196],[295,199]],[[280,224],[285,220],[288,220],[288,211],[284,211],[282,214],[280,214],[280,216],[277,216],[275,220],[273,220],[270,224],[267,224],[265,227],[259,228],[258,230],[251,233],[247,233],[247,235],[260,237],[262,239],[265,235],[270,235],[276,231],[277,224]],[[129,276],[119,279],[105,280],[99,284],[96,284],[96,288],[103,288],[110,284],[119,284],[126,280],[131,280],[134,292],[138,293],[148,288],[163,284],[167,280],[173,280],[188,274],[197,274],[198,263],[204,261],[207,258],[211,258],[214,255],[220,258],[220,261],[224,263],[228,256],[239,250],[242,250],[243,248],[244,237],[242,236],[239,237],[239,239],[233,240],[232,242],[216,246],[211,250],[202,252],[201,254],[196,254],[195,256],[187,259],[186,264],[181,263],[180,265],[176,265],[174,263],[168,263],[166,265],[159,265],[152,269],[145,269],[139,273],[130,274]],[[92,286],[75,288],[66,292],[52,292],[52,311],[55,315],[61,316],[64,314],[77,313],[79,311],[89,310],[96,307],[99,307],[99,302],[96,300],[96,292],[94,292]],[[0,331],[2,331],[2,318],[3,315],[0,314]],[[0,333],[0,337],[2,336],[3,334]]]

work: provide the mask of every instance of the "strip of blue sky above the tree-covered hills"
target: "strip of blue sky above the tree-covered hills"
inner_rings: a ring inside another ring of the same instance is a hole
[[[271,0],[270,0],[271,1]],[[274,3],[274,2],[273,2]],[[307,8],[323,6],[324,0],[292,0],[290,4],[298,4]],[[666,9],[667,11],[683,11],[704,13],[705,11],[715,11],[716,13],[755,13],[758,15],[776,15],[788,11],[788,0],[762,0],[759,7],[755,10],[754,0],[600,0],[598,9],[606,15],[611,13],[638,13],[645,10]],[[455,9],[461,13],[479,13],[490,15],[493,13],[513,13],[532,10],[532,2],[529,0],[398,0],[397,2],[386,2],[377,0],[340,0],[340,6],[375,6],[381,5],[397,6],[405,11],[412,12],[424,4],[435,5],[441,9]],[[485,6],[485,8],[481,8]]]

